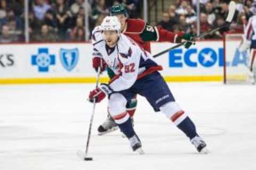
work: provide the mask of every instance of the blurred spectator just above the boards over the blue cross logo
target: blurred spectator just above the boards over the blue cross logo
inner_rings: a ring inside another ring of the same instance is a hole
[[[37,42],[57,42],[58,38],[55,35],[55,32],[50,30],[49,25],[42,25],[41,34],[33,37],[34,41]]]

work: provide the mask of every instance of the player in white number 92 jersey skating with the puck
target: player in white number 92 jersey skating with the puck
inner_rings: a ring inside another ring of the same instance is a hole
[[[194,123],[182,111],[158,71],[162,66],[141,49],[132,39],[119,32],[116,16],[106,16],[94,29],[93,57],[98,57],[116,74],[108,84],[101,84],[89,95],[91,102],[108,98],[108,109],[118,128],[129,139],[132,150],[143,154],[141,141],[135,133],[126,103],[134,95],[145,97],[156,112],[161,111],[190,139],[198,152],[208,153],[204,140],[196,132]],[[100,68],[101,69],[101,68]]]

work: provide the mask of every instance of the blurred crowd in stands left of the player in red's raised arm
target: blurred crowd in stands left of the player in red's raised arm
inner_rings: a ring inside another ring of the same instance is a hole
[[[25,40],[25,0],[0,0],[0,43]],[[30,42],[85,40],[85,6],[89,11],[89,34],[110,7],[122,3],[132,18],[139,0],[29,0]]]

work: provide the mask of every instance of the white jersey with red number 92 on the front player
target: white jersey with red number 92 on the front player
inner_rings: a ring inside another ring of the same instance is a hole
[[[92,43],[92,56],[103,58],[116,74],[109,83],[114,91],[129,89],[138,77],[162,70],[162,66],[158,66],[148,52],[122,33],[116,46],[109,48],[103,40],[100,28],[96,27],[92,32]]]

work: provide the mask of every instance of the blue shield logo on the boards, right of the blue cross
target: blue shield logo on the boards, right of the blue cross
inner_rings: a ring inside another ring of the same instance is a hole
[[[78,62],[78,49],[60,49],[60,61],[67,71],[74,69]]]

